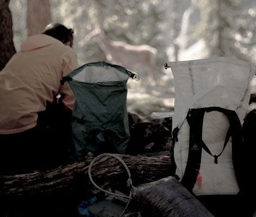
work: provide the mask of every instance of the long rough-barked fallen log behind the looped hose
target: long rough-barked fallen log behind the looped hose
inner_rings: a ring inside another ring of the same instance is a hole
[[[159,180],[170,176],[171,163],[159,158],[118,155],[127,164],[134,185]],[[88,168],[93,157],[84,162],[61,166],[48,171],[30,174],[0,176],[0,195],[44,195],[58,191],[99,192],[89,180]],[[104,156],[92,168],[93,180],[102,188],[125,186],[128,175],[116,158]]]

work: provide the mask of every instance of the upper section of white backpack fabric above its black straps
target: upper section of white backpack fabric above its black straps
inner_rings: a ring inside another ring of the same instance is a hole
[[[255,67],[235,58],[168,62],[174,76],[173,129],[189,108],[223,107],[235,110],[242,122],[249,102],[249,82]]]

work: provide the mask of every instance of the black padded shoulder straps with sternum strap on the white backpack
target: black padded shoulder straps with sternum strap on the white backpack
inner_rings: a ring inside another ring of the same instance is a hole
[[[203,117],[205,112],[218,111],[225,114],[229,120],[229,130],[227,132],[227,136],[223,145],[223,150],[219,155],[212,155],[207,145],[202,140],[202,126],[203,126]],[[198,171],[200,169],[201,164],[201,155],[202,148],[208,152],[211,156],[214,156],[214,161],[217,163],[217,157],[222,154],[224,149],[226,148],[227,142],[232,137],[232,158],[233,158],[233,166],[235,170],[235,175],[240,183],[240,165],[242,165],[239,157],[235,157],[239,155],[239,145],[242,144],[242,131],[241,131],[241,123],[238,118],[238,115],[235,111],[227,110],[226,108],[221,107],[208,107],[208,108],[193,108],[187,114],[187,120],[190,125],[190,140],[189,140],[189,155],[188,155],[188,163],[186,164],[184,176],[182,179],[182,184],[186,187],[190,192],[192,192],[192,188],[196,183],[196,178],[198,175]]]

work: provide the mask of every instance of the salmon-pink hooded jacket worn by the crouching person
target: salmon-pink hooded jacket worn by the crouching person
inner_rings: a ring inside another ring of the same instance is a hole
[[[0,72],[0,134],[36,126],[38,112],[45,111],[58,94],[72,110],[74,94],[61,78],[78,68],[71,47],[45,34],[28,37]]]

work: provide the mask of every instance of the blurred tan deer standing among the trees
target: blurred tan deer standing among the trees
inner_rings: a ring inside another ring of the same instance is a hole
[[[160,69],[155,65],[157,49],[148,45],[132,45],[108,38],[103,29],[95,29],[86,36],[86,42],[96,42],[105,53],[107,61],[127,69],[143,66],[149,71],[149,77],[160,78]]]

